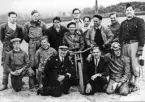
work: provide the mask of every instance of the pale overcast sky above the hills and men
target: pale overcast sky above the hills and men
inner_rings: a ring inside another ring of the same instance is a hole
[[[145,0],[98,0],[99,5],[109,6],[126,1]],[[93,7],[95,0],[0,0],[0,13],[16,11],[20,13],[30,13],[37,9],[41,13],[56,14],[60,11],[71,11],[73,8]]]

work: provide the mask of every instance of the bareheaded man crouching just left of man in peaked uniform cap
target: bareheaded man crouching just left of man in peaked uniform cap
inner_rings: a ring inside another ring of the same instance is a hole
[[[50,44],[48,42],[47,36],[41,37],[41,47],[36,51],[35,55],[35,65],[38,67],[38,81],[39,81],[39,87],[42,86],[42,78],[44,76],[44,67],[46,64],[46,61],[50,59],[52,56],[56,56],[57,51],[50,47]]]

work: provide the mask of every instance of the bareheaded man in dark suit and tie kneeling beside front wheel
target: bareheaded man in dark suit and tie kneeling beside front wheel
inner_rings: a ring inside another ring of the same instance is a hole
[[[95,92],[105,92],[108,75],[107,62],[101,57],[100,48],[94,47],[85,65],[85,93],[93,95]]]

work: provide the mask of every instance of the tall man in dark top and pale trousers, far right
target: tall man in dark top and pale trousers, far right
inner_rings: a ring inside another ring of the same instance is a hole
[[[126,20],[121,23],[119,41],[123,46],[123,54],[131,59],[130,88],[137,91],[140,76],[139,57],[142,56],[144,47],[145,22],[142,18],[136,17],[134,7],[126,5]]]

